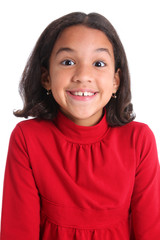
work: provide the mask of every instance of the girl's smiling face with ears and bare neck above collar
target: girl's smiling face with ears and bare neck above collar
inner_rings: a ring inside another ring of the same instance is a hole
[[[83,25],[68,27],[57,39],[49,63],[42,84],[51,89],[61,111],[78,125],[95,125],[120,81],[106,35]]]

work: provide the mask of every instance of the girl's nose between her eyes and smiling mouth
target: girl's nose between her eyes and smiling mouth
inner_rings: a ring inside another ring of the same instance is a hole
[[[74,75],[72,77],[73,82],[92,82],[93,81],[93,75],[92,75],[92,69],[88,65],[80,65],[77,66],[74,72]]]

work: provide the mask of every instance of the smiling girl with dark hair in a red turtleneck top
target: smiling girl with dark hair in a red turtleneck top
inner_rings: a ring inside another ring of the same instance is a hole
[[[159,240],[155,138],[134,122],[126,55],[103,16],[40,36],[6,163],[1,240]]]

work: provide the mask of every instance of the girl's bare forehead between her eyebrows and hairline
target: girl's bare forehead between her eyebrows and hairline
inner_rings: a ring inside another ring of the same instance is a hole
[[[53,52],[60,47],[70,47],[75,50],[95,50],[107,48],[113,55],[113,47],[104,32],[83,25],[65,28],[53,47]]]

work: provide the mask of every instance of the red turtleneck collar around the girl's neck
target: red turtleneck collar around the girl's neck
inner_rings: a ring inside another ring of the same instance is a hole
[[[108,130],[106,110],[100,122],[94,126],[79,126],[67,118],[61,111],[58,112],[54,123],[67,140],[81,144],[100,141]]]

